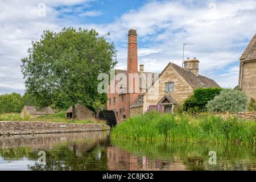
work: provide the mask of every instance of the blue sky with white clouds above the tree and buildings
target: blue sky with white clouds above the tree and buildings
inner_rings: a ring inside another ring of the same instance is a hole
[[[199,73],[222,87],[238,84],[239,58],[256,33],[256,1],[0,1],[0,94],[24,93],[20,65],[44,30],[94,28],[127,67],[127,32],[138,34],[138,64],[160,73],[171,61],[199,59]],[[108,32],[110,35],[107,35]]]

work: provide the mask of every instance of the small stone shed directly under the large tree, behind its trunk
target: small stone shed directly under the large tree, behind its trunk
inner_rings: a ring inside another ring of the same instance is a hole
[[[71,106],[66,111],[66,118],[72,119],[72,117],[73,117],[73,111]],[[88,107],[82,104],[76,105],[76,119],[86,120],[86,119],[94,119],[94,118],[95,118],[95,113],[92,110],[90,110]]]

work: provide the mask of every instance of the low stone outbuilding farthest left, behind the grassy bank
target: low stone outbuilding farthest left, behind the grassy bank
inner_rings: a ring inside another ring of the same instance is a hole
[[[24,118],[26,116],[29,116],[30,118],[37,118],[39,116],[43,115],[49,115],[49,114],[54,114],[54,111],[51,109],[51,107],[37,107],[37,106],[24,106],[21,113],[20,117]]]

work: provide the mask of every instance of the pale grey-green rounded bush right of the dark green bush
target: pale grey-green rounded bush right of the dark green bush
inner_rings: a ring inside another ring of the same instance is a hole
[[[207,104],[207,110],[218,113],[245,111],[247,96],[240,90],[224,89]]]

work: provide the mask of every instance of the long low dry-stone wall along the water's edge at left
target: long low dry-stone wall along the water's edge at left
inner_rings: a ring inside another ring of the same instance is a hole
[[[0,135],[43,134],[43,133],[69,133],[82,131],[110,130],[102,124],[79,124],[59,122],[28,122],[28,121],[1,121]]]

